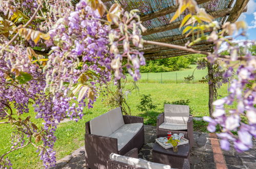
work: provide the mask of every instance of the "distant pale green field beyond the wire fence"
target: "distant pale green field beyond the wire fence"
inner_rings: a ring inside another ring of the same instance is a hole
[[[142,73],[142,77],[139,82],[149,82],[149,83],[161,83],[161,74],[162,74],[162,83],[184,83],[184,77],[188,75],[192,75],[194,68],[196,65],[190,65],[191,69],[184,69],[181,71],[173,71],[173,72],[163,72],[163,73]],[[202,77],[207,75],[207,69],[194,71],[194,82],[199,82]],[[177,76],[177,80],[176,80]],[[127,76],[127,81],[132,81],[131,76]],[[192,83],[192,82],[191,82]]]

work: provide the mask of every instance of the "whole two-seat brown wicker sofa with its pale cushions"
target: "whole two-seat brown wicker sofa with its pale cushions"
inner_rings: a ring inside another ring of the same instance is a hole
[[[121,108],[111,110],[86,122],[86,167],[107,168],[111,153],[125,155],[143,144],[143,118],[122,115]]]

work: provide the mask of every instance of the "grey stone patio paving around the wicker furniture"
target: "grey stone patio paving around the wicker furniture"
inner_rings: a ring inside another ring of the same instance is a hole
[[[152,160],[152,147],[156,139],[156,129],[152,125],[145,127],[145,144],[139,151],[139,158]],[[222,151],[228,169],[249,168],[256,169],[256,139],[253,139],[251,150],[238,153],[231,146],[230,151]],[[85,149],[80,147],[71,155],[58,160],[54,168],[85,168]],[[210,135],[207,133],[194,132],[194,146],[190,154],[190,168],[216,168],[213,158]],[[218,168],[219,169],[219,168]]]

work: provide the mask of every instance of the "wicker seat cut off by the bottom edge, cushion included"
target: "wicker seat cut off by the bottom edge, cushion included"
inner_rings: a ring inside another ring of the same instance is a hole
[[[132,149],[124,156],[120,156],[114,153],[110,154],[110,159],[107,161],[108,169],[171,169],[170,165],[154,163],[138,158],[138,151],[136,148]],[[183,164],[183,169],[189,169],[189,160],[185,159]]]

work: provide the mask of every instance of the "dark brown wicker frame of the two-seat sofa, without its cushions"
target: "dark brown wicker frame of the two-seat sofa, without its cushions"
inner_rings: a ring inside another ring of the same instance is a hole
[[[143,123],[142,117],[123,115],[124,124]],[[100,124],[99,124],[100,125]],[[85,160],[88,168],[107,168],[111,153],[125,155],[133,148],[140,149],[144,144],[144,126],[119,150],[117,138],[91,134],[90,121],[86,122]],[[105,130],[103,128],[102,130]]]

